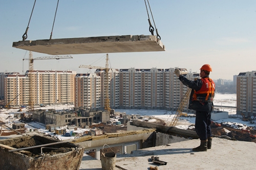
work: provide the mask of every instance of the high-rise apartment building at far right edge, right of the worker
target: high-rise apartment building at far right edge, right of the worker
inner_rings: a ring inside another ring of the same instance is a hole
[[[256,71],[237,76],[237,114],[256,115]]]

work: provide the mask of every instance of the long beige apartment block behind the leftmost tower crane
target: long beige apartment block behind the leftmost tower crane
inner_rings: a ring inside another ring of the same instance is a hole
[[[25,75],[5,76],[5,102],[9,103],[19,94],[11,105],[28,105],[32,99],[34,105],[54,105],[74,103],[74,77],[76,71],[40,71],[33,70],[32,96],[29,96],[28,71]]]

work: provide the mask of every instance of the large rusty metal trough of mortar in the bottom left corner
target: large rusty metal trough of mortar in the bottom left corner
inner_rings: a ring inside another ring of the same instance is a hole
[[[78,170],[84,152],[83,147],[74,143],[58,142],[39,135],[4,139],[0,144],[6,145],[5,148],[0,147],[1,169]],[[9,147],[17,150],[6,149]],[[21,148],[24,150],[19,151]]]

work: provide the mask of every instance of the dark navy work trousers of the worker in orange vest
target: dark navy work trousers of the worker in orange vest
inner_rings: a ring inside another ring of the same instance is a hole
[[[206,140],[211,137],[210,130],[211,111],[196,111],[195,129],[200,140]]]

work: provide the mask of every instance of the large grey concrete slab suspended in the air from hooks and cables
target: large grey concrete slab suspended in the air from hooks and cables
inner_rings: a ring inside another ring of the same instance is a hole
[[[154,35],[121,35],[13,42],[13,47],[49,55],[165,51]]]

